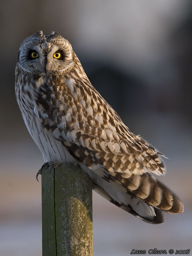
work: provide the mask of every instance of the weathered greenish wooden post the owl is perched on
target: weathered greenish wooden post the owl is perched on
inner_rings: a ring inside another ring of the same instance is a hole
[[[92,182],[74,164],[42,170],[42,256],[93,256]]]

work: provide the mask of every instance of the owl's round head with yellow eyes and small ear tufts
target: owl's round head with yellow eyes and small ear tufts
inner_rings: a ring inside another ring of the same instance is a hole
[[[17,64],[26,74],[60,75],[74,67],[75,55],[71,44],[57,32],[44,36],[38,31],[22,42]]]

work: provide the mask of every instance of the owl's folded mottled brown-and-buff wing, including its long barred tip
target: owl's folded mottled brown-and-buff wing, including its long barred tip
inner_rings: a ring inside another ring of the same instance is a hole
[[[162,154],[132,134],[89,82],[76,82],[75,91],[69,84],[53,97],[54,104],[50,96],[36,100],[34,113],[43,126],[118,190],[170,213],[182,212],[177,196],[150,174],[164,174]]]

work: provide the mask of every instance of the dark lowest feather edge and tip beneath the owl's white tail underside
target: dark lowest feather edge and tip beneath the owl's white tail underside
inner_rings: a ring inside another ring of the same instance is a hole
[[[136,211],[134,211],[134,209],[132,208],[132,206],[130,204],[128,204],[128,205],[120,204],[117,201],[115,201],[104,189],[102,189],[95,183],[93,183],[93,190],[95,192],[97,192],[98,194],[100,194],[100,196],[104,197],[106,200],[111,202],[112,204],[118,206],[119,208],[125,210],[126,212],[129,212],[130,214],[136,216],[137,218],[140,218],[140,220],[143,220],[144,222],[148,222],[150,224],[160,224],[160,223],[164,222],[163,213],[159,209],[153,208],[153,210],[155,212],[155,214],[154,214],[155,216],[153,218],[147,218],[147,217],[141,216]]]

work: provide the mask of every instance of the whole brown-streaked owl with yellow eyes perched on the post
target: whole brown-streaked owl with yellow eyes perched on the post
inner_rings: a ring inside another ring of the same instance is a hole
[[[44,162],[78,164],[98,194],[145,222],[183,212],[178,196],[154,177],[165,174],[163,154],[122,122],[66,39],[42,31],[26,38],[15,76],[19,108]]]

